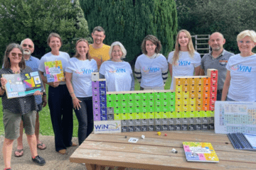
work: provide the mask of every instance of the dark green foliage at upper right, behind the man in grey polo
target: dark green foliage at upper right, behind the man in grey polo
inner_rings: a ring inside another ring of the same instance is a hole
[[[240,53],[236,42],[242,30],[255,30],[255,0],[176,0],[178,29],[191,35],[223,33],[225,50]],[[189,2],[189,3],[188,3]]]

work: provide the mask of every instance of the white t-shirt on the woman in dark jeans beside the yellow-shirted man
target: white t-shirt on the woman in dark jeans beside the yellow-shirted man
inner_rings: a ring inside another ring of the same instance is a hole
[[[78,60],[78,58],[72,57],[65,72],[72,73],[75,96],[80,98],[92,96],[92,72],[97,72],[95,60]]]

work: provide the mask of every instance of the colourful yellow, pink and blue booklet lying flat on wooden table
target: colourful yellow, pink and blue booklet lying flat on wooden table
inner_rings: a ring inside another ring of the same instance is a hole
[[[183,142],[188,162],[219,162],[210,142]]]

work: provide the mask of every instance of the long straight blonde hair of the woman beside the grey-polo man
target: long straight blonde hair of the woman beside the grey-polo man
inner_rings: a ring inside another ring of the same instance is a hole
[[[180,31],[178,31],[178,35],[176,37],[176,44],[175,44],[174,57],[173,57],[173,65],[175,65],[175,63],[178,61],[179,52],[181,50],[180,45],[178,43],[178,38],[179,38],[179,35],[180,35],[181,32],[185,33],[188,37],[188,54],[189,54],[189,56],[193,58],[193,56],[195,54],[195,49],[193,47],[193,42],[191,40],[191,34],[187,30],[180,30]]]

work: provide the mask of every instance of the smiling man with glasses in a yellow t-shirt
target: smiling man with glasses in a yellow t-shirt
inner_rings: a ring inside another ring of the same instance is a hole
[[[110,60],[110,46],[103,44],[105,37],[105,30],[101,26],[97,26],[92,30],[93,44],[89,46],[89,52],[90,56],[96,60],[98,70],[100,70],[102,62]]]

